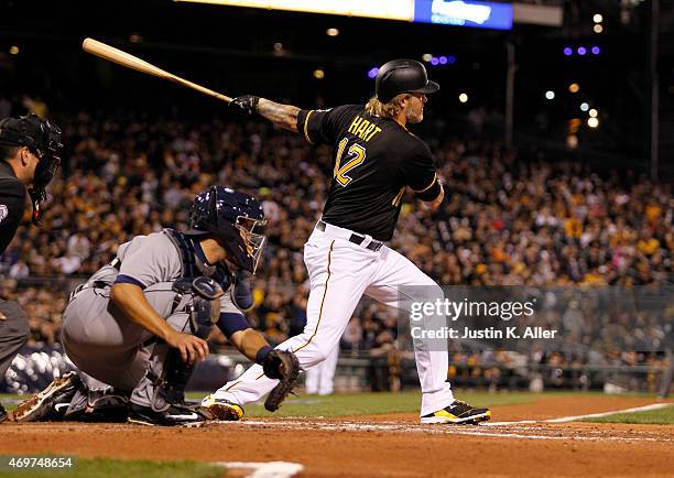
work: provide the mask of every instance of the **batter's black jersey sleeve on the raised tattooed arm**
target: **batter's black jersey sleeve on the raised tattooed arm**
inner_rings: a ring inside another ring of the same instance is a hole
[[[357,106],[345,105],[331,109],[301,109],[297,115],[297,131],[309,143],[333,145],[339,140],[339,131],[352,120]]]

